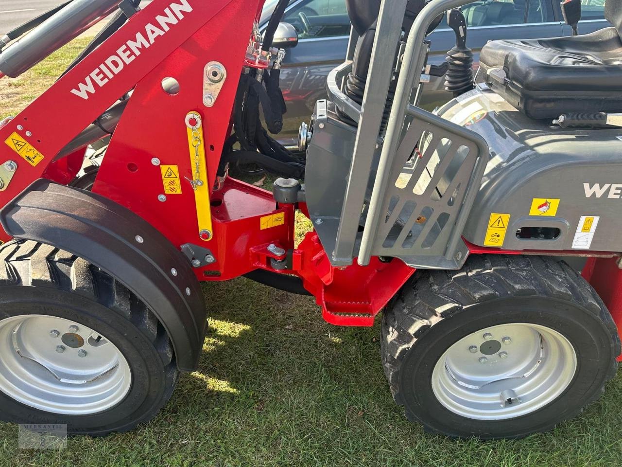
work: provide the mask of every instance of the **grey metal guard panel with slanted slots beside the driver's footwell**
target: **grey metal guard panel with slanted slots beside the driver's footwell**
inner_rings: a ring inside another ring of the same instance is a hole
[[[488,158],[474,133],[412,106],[408,113],[415,118],[392,161],[373,255],[459,267],[460,236]]]

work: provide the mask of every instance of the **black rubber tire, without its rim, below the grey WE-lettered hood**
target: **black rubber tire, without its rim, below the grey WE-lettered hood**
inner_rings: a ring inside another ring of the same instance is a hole
[[[443,353],[496,324],[534,323],[562,334],[577,370],[567,389],[539,410],[477,420],[448,410],[432,390]],[[616,373],[620,337],[593,288],[564,262],[546,257],[473,255],[460,271],[417,271],[387,307],[381,357],[397,404],[425,430],[451,437],[521,438],[575,417]]]

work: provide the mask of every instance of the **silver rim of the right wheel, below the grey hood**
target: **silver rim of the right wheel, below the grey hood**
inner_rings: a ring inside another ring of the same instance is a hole
[[[577,370],[562,334],[531,323],[491,326],[469,334],[440,357],[432,390],[442,405],[476,420],[505,420],[557,399]]]

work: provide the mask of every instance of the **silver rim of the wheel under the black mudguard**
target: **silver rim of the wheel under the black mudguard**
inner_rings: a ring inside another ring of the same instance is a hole
[[[45,412],[88,415],[121,402],[128,362],[105,336],[80,323],[30,314],[0,321],[0,390]]]

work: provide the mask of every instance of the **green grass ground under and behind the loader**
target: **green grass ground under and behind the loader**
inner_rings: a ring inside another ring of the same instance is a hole
[[[53,82],[79,39],[16,80],[0,115]],[[304,228],[304,226],[302,227]],[[379,326],[323,322],[309,297],[246,279],[206,283],[210,330],[199,368],[182,375],[151,423],[63,451],[17,448],[0,423],[0,466],[620,466],[622,372],[581,417],[521,441],[453,441],[407,422],[379,358]]]

